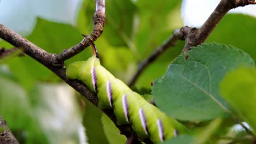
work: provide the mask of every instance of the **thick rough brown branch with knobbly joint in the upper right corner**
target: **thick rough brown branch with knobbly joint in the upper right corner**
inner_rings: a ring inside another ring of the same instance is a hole
[[[188,26],[181,28],[183,38],[187,39],[187,44],[184,47],[183,53],[189,51],[191,46],[197,46],[205,42],[213,29],[229,10],[237,7],[244,7],[248,4],[256,4],[256,2],[255,0],[222,0],[200,29]]]

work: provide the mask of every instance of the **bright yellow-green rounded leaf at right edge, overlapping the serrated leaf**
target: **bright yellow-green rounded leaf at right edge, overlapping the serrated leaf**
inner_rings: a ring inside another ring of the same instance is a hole
[[[234,114],[241,117],[256,131],[256,70],[241,67],[228,73],[221,85],[220,92],[234,109]],[[256,134],[254,132],[254,134]]]

